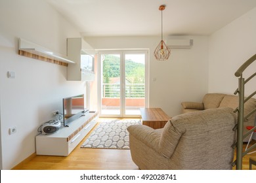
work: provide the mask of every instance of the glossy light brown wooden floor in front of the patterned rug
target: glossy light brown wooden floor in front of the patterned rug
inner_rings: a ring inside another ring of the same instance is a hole
[[[88,134],[89,135],[89,134]],[[87,136],[88,136],[87,135]],[[87,137],[85,137],[86,139]],[[252,143],[255,143],[253,141]],[[137,170],[131,159],[130,150],[80,148],[83,141],[68,156],[34,156],[27,162],[22,162],[13,169],[16,170]],[[245,144],[244,144],[245,148]],[[249,169],[249,158],[256,153],[243,158],[243,169]],[[236,157],[236,156],[234,156]],[[234,169],[236,169],[234,167]],[[253,170],[256,166],[253,165]]]

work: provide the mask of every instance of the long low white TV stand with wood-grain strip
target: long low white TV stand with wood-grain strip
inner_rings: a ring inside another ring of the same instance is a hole
[[[56,133],[35,137],[37,155],[68,156],[96,125],[98,112],[89,112]]]

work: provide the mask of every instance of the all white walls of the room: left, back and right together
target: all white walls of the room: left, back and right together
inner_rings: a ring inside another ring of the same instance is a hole
[[[207,36],[194,39],[191,49],[172,49],[166,62],[153,52],[160,37],[87,37],[97,49],[150,49],[150,107],[169,116],[181,112],[182,101],[202,101],[207,92],[233,93],[235,71],[256,50],[256,8]],[[85,92],[84,82],[66,81],[66,67],[19,56],[18,37],[66,54],[66,38],[79,33],[45,1],[0,1],[0,123],[3,169],[11,169],[35,152],[37,127],[62,110],[62,97]],[[176,37],[174,37],[176,38]],[[209,61],[209,63],[208,63]],[[256,63],[248,69],[255,72]],[[7,78],[14,71],[16,78]],[[208,74],[209,73],[209,74]],[[156,78],[156,81],[153,81]],[[255,80],[247,93],[255,91]],[[9,135],[9,127],[17,132]]]

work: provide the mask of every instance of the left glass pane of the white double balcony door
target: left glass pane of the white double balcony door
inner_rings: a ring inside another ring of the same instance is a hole
[[[120,54],[101,54],[101,114],[121,115]]]

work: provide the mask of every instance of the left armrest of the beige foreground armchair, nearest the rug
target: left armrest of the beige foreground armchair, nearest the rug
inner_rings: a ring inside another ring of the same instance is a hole
[[[161,137],[161,129],[152,129],[146,125],[130,125],[127,127],[129,135],[133,135],[135,139],[146,144],[156,152],[159,152],[159,142]]]

